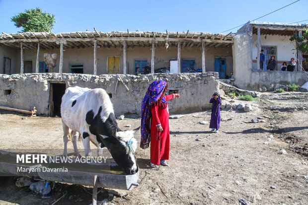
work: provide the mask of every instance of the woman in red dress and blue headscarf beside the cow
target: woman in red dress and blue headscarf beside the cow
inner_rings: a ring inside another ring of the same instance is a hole
[[[168,166],[169,159],[169,110],[166,101],[180,98],[179,94],[164,96],[167,89],[164,80],[156,80],[149,85],[142,101],[140,147],[146,149],[151,144],[151,166]]]

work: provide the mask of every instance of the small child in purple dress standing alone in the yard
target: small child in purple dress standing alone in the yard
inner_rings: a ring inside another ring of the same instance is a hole
[[[210,100],[210,103],[212,103],[210,128],[212,128],[212,132],[218,133],[220,124],[220,105],[222,104],[220,94],[215,92]]]

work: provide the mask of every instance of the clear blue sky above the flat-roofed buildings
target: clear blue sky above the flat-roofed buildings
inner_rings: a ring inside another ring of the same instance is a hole
[[[54,33],[76,31],[200,31],[219,33],[296,0],[0,0],[0,33],[16,33],[10,18],[40,7],[55,15]],[[258,21],[293,23],[308,19],[300,0]],[[308,24],[308,21],[301,22]],[[236,32],[238,28],[231,30]],[[229,33],[230,31],[226,32]]]

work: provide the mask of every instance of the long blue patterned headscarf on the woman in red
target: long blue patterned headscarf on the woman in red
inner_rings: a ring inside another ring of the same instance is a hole
[[[156,80],[149,85],[147,93],[141,105],[141,140],[140,147],[146,149],[151,141],[151,108],[154,105],[166,106],[166,100],[162,97],[166,91],[167,83],[164,80]]]

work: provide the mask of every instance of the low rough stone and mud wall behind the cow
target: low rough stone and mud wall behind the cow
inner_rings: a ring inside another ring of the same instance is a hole
[[[120,74],[129,88],[117,82],[116,75],[90,75],[66,73],[27,73],[0,74],[0,105],[31,110],[34,106],[39,114],[49,114],[50,87],[53,82],[63,82],[66,87],[80,86],[104,88],[112,95],[115,114],[140,114],[141,102],[150,83],[165,80],[169,92],[177,92],[180,99],[172,100],[169,110],[172,113],[202,111],[210,108],[210,98],[219,91],[218,72],[206,73],[160,73],[142,76]]]

